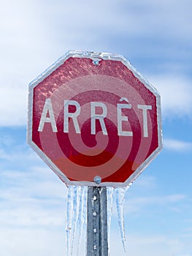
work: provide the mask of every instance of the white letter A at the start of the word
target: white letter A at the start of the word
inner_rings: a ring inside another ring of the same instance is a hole
[[[49,115],[49,117],[47,117],[47,114]],[[52,106],[52,103],[51,103],[50,99],[45,99],[45,105],[44,105],[43,110],[42,110],[42,116],[41,116],[41,119],[40,119],[40,122],[39,122],[38,132],[42,132],[45,123],[50,123],[51,124],[53,132],[58,131],[58,129],[56,127],[56,123],[55,123],[55,117],[54,117],[54,113],[53,113],[53,106]]]

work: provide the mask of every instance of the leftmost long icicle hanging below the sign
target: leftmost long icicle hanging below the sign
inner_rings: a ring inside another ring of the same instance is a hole
[[[72,234],[72,209],[73,209],[73,187],[68,188],[67,192],[67,217],[66,217],[66,255],[70,256],[71,234]]]

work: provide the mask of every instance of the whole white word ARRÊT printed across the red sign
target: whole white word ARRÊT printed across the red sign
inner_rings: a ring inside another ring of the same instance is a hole
[[[126,101],[123,103],[122,101]],[[133,132],[124,128],[123,122],[128,122],[128,116],[123,113],[123,109],[131,109],[131,104],[128,104],[128,99],[121,98],[117,104],[117,124],[118,124],[118,136],[133,136]],[[71,110],[72,107],[74,110]],[[148,117],[147,110],[152,110],[152,105],[137,105],[138,111],[142,110],[142,136],[147,138],[148,135]],[[70,112],[71,111],[71,112]],[[81,107],[80,103],[75,100],[65,99],[64,100],[64,132],[69,132],[69,121],[74,124],[75,132],[80,134],[80,124],[77,117],[80,116]],[[99,121],[101,125],[101,131],[103,135],[108,135],[104,118],[107,117],[107,105],[103,102],[91,102],[91,135],[96,135],[96,121]],[[109,117],[110,118],[110,117]],[[45,99],[45,105],[42,110],[42,116],[39,121],[38,132],[42,132],[45,123],[50,124],[53,132],[58,132],[55,116],[53,113],[53,105],[51,99]],[[126,130],[125,130],[126,129]]]

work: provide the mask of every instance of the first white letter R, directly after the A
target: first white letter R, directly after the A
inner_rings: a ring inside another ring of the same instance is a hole
[[[69,113],[69,105],[76,107],[74,113]],[[69,132],[69,118],[72,118],[76,133],[80,133],[77,116],[80,116],[80,104],[75,100],[64,100],[64,132]]]

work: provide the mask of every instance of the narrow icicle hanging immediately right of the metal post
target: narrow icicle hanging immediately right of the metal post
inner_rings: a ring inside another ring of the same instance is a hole
[[[114,188],[107,187],[107,236],[108,246],[110,248],[110,230],[111,230],[111,218],[112,218],[112,195]]]

